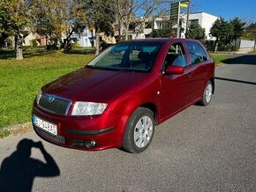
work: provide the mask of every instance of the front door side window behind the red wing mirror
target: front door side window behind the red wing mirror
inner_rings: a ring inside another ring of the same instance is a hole
[[[180,43],[174,43],[169,47],[165,57],[165,65],[187,66],[184,49]]]

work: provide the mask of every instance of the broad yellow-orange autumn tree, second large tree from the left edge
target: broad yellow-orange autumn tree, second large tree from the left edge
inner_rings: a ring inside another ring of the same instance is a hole
[[[73,33],[81,33],[87,26],[87,15],[79,0],[34,0],[33,24],[36,33],[56,41],[62,41],[62,48],[71,48]]]

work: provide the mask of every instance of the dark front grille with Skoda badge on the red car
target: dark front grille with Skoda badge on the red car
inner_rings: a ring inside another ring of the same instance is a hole
[[[41,94],[38,106],[53,114],[65,115],[68,113],[72,101],[52,94]]]

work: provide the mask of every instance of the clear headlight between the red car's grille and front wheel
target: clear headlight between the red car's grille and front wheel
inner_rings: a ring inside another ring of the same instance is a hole
[[[72,115],[95,115],[102,114],[108,106],[106,103],[77,101],[73,107]]]

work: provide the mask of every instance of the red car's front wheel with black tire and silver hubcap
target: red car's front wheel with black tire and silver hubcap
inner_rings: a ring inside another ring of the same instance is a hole
[[[147,122],[145,122],[144,124],[144,128],[143,128],[144,132],[143,132],[143,129],[141,130],[138,128],[140,127],[139,126],[140,123],[143,127],[144,121],[147,121]],[[151,123],[152,123],[152,126],[151,126]],[[148,126],[150,125],[148,129],[147,128],[145,129],[146,125]],[[137,141],[135,141],[135,138],[134,138],[135,134],[137,135],[140,134]],[[138,107],[132,113],[132,115],[128,120],[128,123],[125,128],[125,132],[124,132],[124,141],[123,141],[122,147],[124,148],[125,151],[129,151],[131,153],[139,153],[139,152],[145,151],[148,145],[151,143],[153,136],[154,136],[154,113],[148,108]],[[141,143],[139,143],[139,141]],[[144,146],[143,146],[143,143],[145,144]],[[139,144],[141,144],[141,146],[139,146]]]

